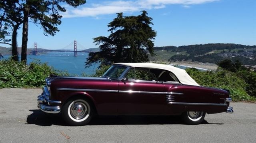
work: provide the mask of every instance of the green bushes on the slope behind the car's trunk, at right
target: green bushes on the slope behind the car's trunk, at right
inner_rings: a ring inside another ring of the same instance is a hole
[[[256,100],[246,92],[248,83],[231,71],[218,68],[216,71],[186,69],[187,73],[200,85],[230,90],[233,101]]]

